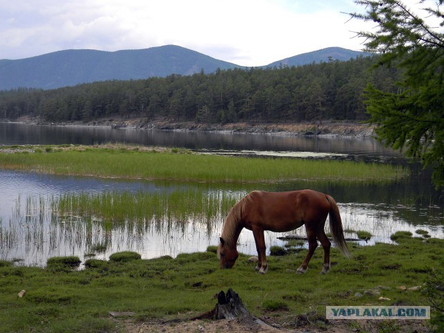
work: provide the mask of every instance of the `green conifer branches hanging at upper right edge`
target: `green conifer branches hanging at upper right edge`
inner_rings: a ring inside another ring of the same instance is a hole
[[[402,1],[355,1],[366,12],[350,15],[375,22],[375,32],[358,33],[366,38],[366,51],[380,54],[380,66],[403,71],[397,92],[367,86],[369,122],[386,146],[434,167],[434,185],[443,187],[444,34],[429,24],[441,22],[442,31],[444,0],[429,2],[434,8],[422,0],[418,10],[411,10]]]

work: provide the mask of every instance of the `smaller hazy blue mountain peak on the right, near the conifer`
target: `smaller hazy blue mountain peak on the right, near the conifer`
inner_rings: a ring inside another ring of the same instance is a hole
[[[291,67],[307,65],[311,64],[311,62],[328,62],[329,57],[331,57],[332,60],[347,61],[357,56],[367,57],[371,56],[371,53],[352,51],[341,47],[327,47],[326,49],[302,53],[298,56],[278,60],[267,65],[267,67],[280,67],[281,65]]]

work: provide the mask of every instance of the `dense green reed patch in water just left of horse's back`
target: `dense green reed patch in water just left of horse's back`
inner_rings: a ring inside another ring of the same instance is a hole
[[[239,194],[225,191],[107,191],[63,194],[51,198],[49,205],[52,212],[65,220],[80,216],[110,230],[120,225],[143,232],[145,227],[156,223],[184,224],[190,220],[201,221],[211,228],[214,220],[220,223],[221,216],[225,216],[239,198]]]

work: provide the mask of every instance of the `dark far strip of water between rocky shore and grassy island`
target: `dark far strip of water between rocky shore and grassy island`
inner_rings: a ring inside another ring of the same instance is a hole
[[[180,147],[195,150],[293,151],[339,153],[377,157],[400,157],[400,153],[371,138],[317,137],[216,133],[202,131],[112,129],[93,126],[33,126],[0,123],[0,144],[101,144],[126,142],[143,146]]]

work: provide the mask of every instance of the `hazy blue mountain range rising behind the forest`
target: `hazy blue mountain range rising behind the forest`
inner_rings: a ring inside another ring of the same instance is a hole
[[[329,47],[272,62],[262,67],[346,61],[370,53]],[[103,80],[137,80],[171,74],[191,75],[203,70],[246,68],[217,60],[181,46],[166,45],[115,52],[65,50],[19,60],[0,60],[0,90],[19,87],[55,89]]]

